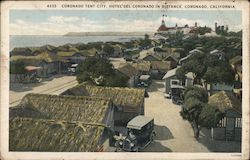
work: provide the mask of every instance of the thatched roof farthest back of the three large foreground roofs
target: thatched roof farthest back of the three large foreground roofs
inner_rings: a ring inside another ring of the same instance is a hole
[[[144,89],[127,87],[102,87],[79,84],[62,93],[63,95],[93,96],[110,98],[117,106],[139,107],[144,100]]]

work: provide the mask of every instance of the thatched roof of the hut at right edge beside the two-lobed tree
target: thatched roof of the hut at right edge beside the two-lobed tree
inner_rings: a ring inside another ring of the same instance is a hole
[[[233,95],[233,93],[220,91],[210,96],[208,103],[217,106],[223,113],[225,113],[227,109],[233,109],[239,113],[242,112],[241,102]]]

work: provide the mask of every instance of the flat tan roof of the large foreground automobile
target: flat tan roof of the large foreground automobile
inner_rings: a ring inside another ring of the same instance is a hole
[[[127,128],[139,130],[152,120],[153,118],[151,117],[136,116],[135,118],[133,118],[131,121],[128,122]]]

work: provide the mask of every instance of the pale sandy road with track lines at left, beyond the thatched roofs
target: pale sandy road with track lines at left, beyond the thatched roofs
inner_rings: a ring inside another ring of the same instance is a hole
[[[44,79],[40,83],[10,84],[10,107],[17,105],[28,93],[60,94],[77,85],[75,76],[60,76]]]

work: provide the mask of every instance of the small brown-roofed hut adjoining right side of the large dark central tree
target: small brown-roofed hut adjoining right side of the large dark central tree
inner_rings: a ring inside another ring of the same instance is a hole
[[[139,82],[139,71],[129,63],[122,63],[118,66],[117,70],[127,76],[128,87],[135,87]]]

